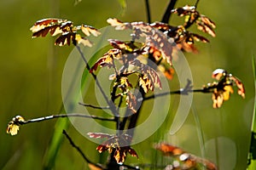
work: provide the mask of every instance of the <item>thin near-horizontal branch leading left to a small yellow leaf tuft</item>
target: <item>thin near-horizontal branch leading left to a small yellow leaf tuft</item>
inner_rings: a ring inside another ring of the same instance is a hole
[[[113,118],[104,118],[104,117],[98,117],[98,116],[88,116],[84,114],[79,114],[79,113],[70,113],[70,114],[60,114],[60,115],[51,115],[51,116],[43,116],[43,117],[38,117],[35,119],[30,119],[24,122],[20,122],[20,125],[31,123],[31,122],[42,122],[42,121],[48,121],[51,119],[55,118],[67,118],[67,117],[84,117],[84,118],[92,118],[96,120],[101,120],[101,121],[114,121]]]

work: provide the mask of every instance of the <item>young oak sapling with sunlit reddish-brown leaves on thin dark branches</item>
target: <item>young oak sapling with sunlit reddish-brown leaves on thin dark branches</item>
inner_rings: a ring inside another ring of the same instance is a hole
[[[146,0],[145,2],[148,7],[148,1]],[[192,80],[188,77],[187,84],[184,88],[175,91],[166,91],[169,88],[166,88],[165,79],[172,82],[172,76],[176,71],[173,60],[181,58],[180,51],[196,54],[198,50],[195,48],[195,42],[209,42],[206,37],[189,31],[190,26],[195,25],[198,30],[215,37],[214,22],[197,10],[199,1],[194,6],[186,5],[174,8],[176,3],[176,0],[170,1],[166,8],[166,13],[159,22],[151,22],[149,8],[147,8],[148,22],[123,22],[115,18],[109,18],[107,20],[108,24],[116,31],[127,31],[130,39],[122,40],[111,37],[111,39],[108,39],[110,45],[108,50],[94,63],[86,58],[87,56],[84,54],[84,50],[89,50],[89,48],[97,45],[94,44],[95,42],[92,42],[91,35],[101,37],[102,34],[105,35],[105,32],[97,30],[92,26],[74,26],[71,20],[55,18],[38,20],[31,28],[32,37],[45,37],[47,34],[50,34],[52,37],[56,37],[55,45],[73,45],[77,50],[78,56],[76,57],[82,59],[84,62],[82,68],[85,68],[85,78],[82,79],[82,85],[79,84],[78,92],[80,92],[81,87],[84,88],[84,84],[88,83],[85,80],[90,75],[94,79],[96,88],[98,89],[99,94],[96,95],[101,95],[105,104],[107,104],[98,106],[90,104],[87,100],[85,102],[81,101],[79,99],[83,98],[79,98],[78,94],[76,94],[77,92],[75,92],[72,95],[68,94],[65,96],[65,99],[70,98],[71,103],[68,105],[72,108],[71,112],[76,112],[73,108],[77,106],[84,106],[86,108],[105,111],[110,113],[111,116],[107,116],[108,114],[106,116],[96,116],[93,112],[89,115],[84,113],[70,113],[69,111],[67,111],[67,114],[44,116],[29,120],[25,120],[22,116],[15,116],[8,124],[7,133],[15,135],[18,133],[20,125],[60,117],[87,118],[98,120],[102,123],[111,122],[114,130],[110,132],[114,133],[87,133],[91,139],[103,139],[96,150],[99,153],[108,151],[109,159],[104,165],[90,161],[65,130],[63,130],[63,134],[67,137],[70,144],[83,156],[84,161],[88,162],[90,169],[140,169],[146,166],[139,165],[134,167],[127,165],[125,164],[125,159],[128,155],[139,157],[137,151],[132,148],[132,144],[134,144],[134,140],[137,140],[135,133],[139,126],[139,117],[142,115],[147,116],[147,112],[143,111],[143,106],[148,100],[167,99],[172,94],[188,96],[193,93],[205,93],[212,94],[212,107],[219,108],[223,105],[224,101],[230,99],[230,94],[234,93],[233,87],[235,86],[237,88],[237,94],[245,98],[245,89],[242,82],[223,69],[213,71],[212,78],[215,79],[215,82],[210,82],[201,88],[193,88]],[[183,25],[170,25],[169,20],[172,14],[184,17]],[[73,67],[76,68],[76,65],[73,65]],[[104,88],[105,84],[102,84],[98,77],[98,70],[100,68],[112,71],[112,74],[108,75],[108,79],[112,81],[109,91],[106,91],[106,88]],[[155,93],[156,90],[158,90],[157,93]],[[64,104],[65,102],[63,101]],[[124,105],[125,111],[121,111]],[[162,113],[162,115],[160,114],[160,117],[162,116],[162,119],[165,119],[165,115],[167,114],[168,111]],[[148,126],[151,125],[148,124]],[[160,142],[159,144],[155,144],[154,148],[160,150],[165,156],[172,157],[172,161],[166,165],[155,168],[218,168],[211,161],[190,154],[172,144]]]

